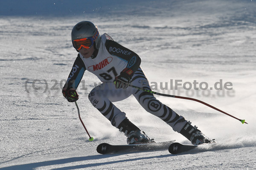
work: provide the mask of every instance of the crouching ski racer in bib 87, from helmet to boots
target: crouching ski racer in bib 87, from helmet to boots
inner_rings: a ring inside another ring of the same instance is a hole
[[[148,112],[161,118],[172,129],[192,142],[209,143],[207,138],[190,121],[177,115],[172,109],[158,101],[153,94],[128,86],[132,84],[142,89],[150,89],[148,80],[140,68],[140,57],[130,49],[116,43],[108,34],[99,35],[97,26],[89,21],[77,23],[71,32],[73,47],[79,52],[67,82],[62,90],[69,102],[77,101],[76,89],[85,70],[96,75],[102,84],[88,95],[91,104],[102,113],[111,124],[125,133],[128,144],[154,142],[125,116],[113,102],[122,101],[134,95]]]

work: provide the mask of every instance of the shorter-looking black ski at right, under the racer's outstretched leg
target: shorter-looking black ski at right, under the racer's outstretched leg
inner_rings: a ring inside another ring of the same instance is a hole
[[[216,144],[216,143],[217,142],[212,141],[211,143],[208,143],[208,144]],[[193,145],[193,144],[180,144],[175,142],[170,144],[168,150],[172,154],[178,154],[178,153],[187,152],[189,150],[197,148],[198,146],[204,146],[204,145],[207,145],[207,144]]]

